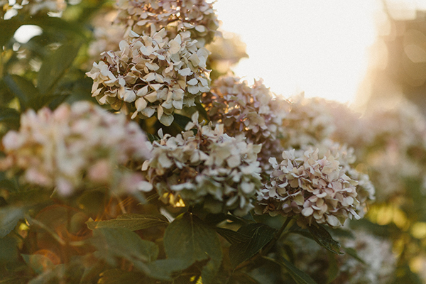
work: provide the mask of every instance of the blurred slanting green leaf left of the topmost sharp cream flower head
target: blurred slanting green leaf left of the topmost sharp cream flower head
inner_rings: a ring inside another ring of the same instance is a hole
[[[38,72],[37,80],[37,88],[42,96],[51,92],[54,85],[72,65],[81,45],[82,42],[75,38],[74,41],[64,43],[51,55],[45,57]]]

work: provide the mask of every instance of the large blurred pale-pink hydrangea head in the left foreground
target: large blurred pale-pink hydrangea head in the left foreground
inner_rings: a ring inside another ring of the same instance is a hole
[[[145,187],[142,175],[123,167],[149,158],[146,136],[126,116],[110,114],[89,102],[62,104],[21,116],[19,131],[3,138],[2,170],[23,172],[24,182],[55,187],[60,195],[107,186],[115,192]],[[120,165],[121,168],[117,168]]]

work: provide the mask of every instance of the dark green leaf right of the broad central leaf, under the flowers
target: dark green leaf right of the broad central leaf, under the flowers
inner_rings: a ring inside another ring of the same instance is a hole
[[[248,236],[248,241],[236,242],[229,248],[232,267],[248,260],[266,246],[275,234],[275,229],[266,224],[253,223],[241,226],[237,233]]]

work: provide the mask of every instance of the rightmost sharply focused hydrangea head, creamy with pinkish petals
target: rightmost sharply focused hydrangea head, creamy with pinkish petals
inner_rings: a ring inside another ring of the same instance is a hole
[[[283,151],[281,163],[270,158],[274,170],[258,192],[256,213],[295,216],[302,227],[312,223],[337,227],[348,218],[359,219],[365,204],[357,199],[358,181],[340,165],[339,153],[319,155],[319,151]]]

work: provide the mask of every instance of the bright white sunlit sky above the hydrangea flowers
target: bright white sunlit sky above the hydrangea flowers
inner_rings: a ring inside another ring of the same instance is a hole
[[[218,0],[222,29],[241,35],[250,58],[234,68],[249,83],[289,97],[353,102],[376,35],[378,0]]]

